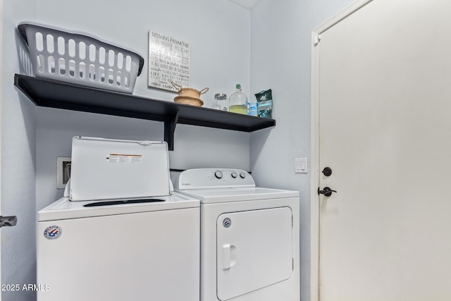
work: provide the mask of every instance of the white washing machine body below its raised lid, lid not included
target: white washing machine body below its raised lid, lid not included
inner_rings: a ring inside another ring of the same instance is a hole
[[[199,200],[71,202],[37,214],[38,301],[199,301]]]

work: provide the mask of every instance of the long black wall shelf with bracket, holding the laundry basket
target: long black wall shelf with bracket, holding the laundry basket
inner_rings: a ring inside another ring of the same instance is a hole
[[[14,85],[37,106],[163,121],[164,140],[168,142],[170,150],[173,150],[177,123],[248,133],[276,125],[273,119],[137,97],[27,75],[16,74]]]

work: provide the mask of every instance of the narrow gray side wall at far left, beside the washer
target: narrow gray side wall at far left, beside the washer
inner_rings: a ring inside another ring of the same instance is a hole
[[[36,282],[35,254],[35,107],[13,86],[14,73],[27,74],[24,45],[16,32],[23,18],[33,20],[33,0],[3,1],[1,47],[1,214],[16,215],[15,227],[1,229],[1,283]],[[2,291],[2,300],[35,300],[34,292]]]

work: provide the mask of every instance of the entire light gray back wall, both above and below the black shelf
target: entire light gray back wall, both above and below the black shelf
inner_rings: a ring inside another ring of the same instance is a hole
[[[228,1],[37,0],[39,23],[90,32],[126,45],[144,56],[134,94],[173,101],[172,92],[147,87],[148,32],[181,39],[191,47],[191,87],[201,90],[204,106],[214,94],[249,93],[250,12]],[[70,8],[71,13],[66,12]],[[89,8],[89,9],[88,9]],[[56,13],[55,13],[56,12]],[[80,19],[82,21],[80,21]],[[130,140],[163,140],[163,123],[92,113],[37,109],[37,209],[63,194],[56,190],[56,156],[70,156],[74,135]],[[170,166],[176,169],[228,167],[249,170],[249,133],[177,125]]]

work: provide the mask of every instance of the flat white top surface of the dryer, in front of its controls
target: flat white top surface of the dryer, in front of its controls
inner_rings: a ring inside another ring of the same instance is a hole
[[[202,204],[299,197],[298,191],[260,187],[193,189],[179,190],[179,192],[200,199]]]

